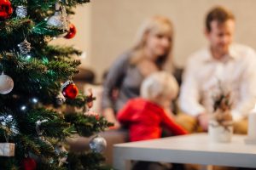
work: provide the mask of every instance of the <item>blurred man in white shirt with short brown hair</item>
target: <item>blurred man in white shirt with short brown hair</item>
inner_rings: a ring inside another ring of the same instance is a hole
[[[247,114],[255,105],[256,54],[234,44],[235,17],[222,7],[207,14],[205,35],[209,47],[189,57],[183,75],[180,107],[207,131],[213,95],[221,86],[231,93],[235,133],[247,133]],[[241,125],[242,124],[242,125]]]

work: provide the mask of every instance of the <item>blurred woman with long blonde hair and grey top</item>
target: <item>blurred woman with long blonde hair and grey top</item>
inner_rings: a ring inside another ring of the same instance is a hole
[[[119,127],[115,113],[129,99],[140,95],[145,77],[166,68],[172,71],[172,22],[163,16],[145,20],[137,33],[135,45],[119,56],[108,71],[104,82],[102,109],[108,122]],[[113,92],[118,92],[113,99]]]

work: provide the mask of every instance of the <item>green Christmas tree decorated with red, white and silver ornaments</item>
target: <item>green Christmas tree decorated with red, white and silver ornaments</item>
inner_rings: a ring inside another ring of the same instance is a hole
[[[0,0],[0,170],[108,169],[101,137],[90,150],[67,150],[68,137],[92,137],[109,124],[88,111],[93,95],[72,81],[81,52],[49,45],[74,37],[68,15],[82,3],[89,0]],[[83,110],[67,113],[63,105]]]

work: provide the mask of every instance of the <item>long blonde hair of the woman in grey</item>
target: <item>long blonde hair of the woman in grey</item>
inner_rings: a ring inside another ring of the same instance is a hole
[[[137,36],[134,42],[134,53],[133,58],[131,59],[131,64],[137,64],[143,59],[143,48],[146,44],[146,38],[149,33],[153,34],[162,34],[167,35],[170,40],[170,47],[166,54],[160,56],[156,61],[156,64],[159,66],[160,70],[164,69],[166,60],[170,59],[172,55],[172,39],[173,39],[173,26],[171,20],[164,16],[154,16],[145,20],[137,31]],[[171,61],[170,61],[171,62]],[[169,65],[170,66],[170,65]]]

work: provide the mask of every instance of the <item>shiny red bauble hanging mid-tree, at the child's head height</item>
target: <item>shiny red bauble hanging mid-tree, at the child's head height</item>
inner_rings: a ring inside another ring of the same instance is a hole
[[[75,99],[79,94],[79,88],[73,81],[67,81],[62,85],[62,94],[69,99]]]

